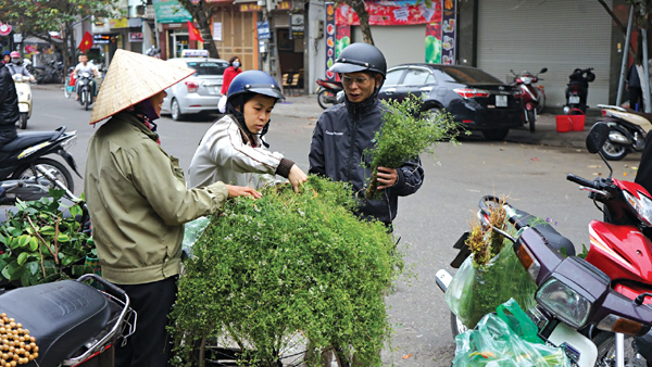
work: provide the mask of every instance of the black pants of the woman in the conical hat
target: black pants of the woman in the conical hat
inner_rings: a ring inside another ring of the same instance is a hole
[[[146,284],[126,284],[122,288],[131,300],[131,308],[138,314],[136,333],[127,344],[115,350],[115,367],[171,366],[171,340],[165,327],[167,314],[176,300],[177,277]]]

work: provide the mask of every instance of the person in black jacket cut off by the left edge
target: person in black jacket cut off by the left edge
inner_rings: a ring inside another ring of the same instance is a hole
[[[16,122],[20,117],[16,85],[7,66],[0,64],[0,144],[16,137]]]

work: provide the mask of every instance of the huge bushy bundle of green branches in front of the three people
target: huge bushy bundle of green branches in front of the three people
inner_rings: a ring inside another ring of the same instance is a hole
[[[377,351],[391,331],[384,293],[402,255],[387,228],[355,217],[353,205],[349,186],[316,176],[300,193],[276,186],[259,200],[228,202],[178,282],[177,365],[199,365],[193,350],[206,340],[229,340],[243,365],[276,366],[299,336],[316,351],[337,346],[380,366]]]

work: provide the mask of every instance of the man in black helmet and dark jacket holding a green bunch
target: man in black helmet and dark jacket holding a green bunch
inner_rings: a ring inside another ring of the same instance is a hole
[[[344,103],[324,111],[317,119],[310,147],[309,173],[347,181],[360,199],[358,215],[376,218],[391,228],[397,216],[398,198],[418,190],[424,169],[417,157],[400,167],[378,167],[379,200],[364,199],[372,170],[365,149],[374,148],[374,136],[383,126],[383,104],[378,91],[385,81],[387,63],[376,47],[355,42],[339,54],[330,71],[338,73],[344,87]]]

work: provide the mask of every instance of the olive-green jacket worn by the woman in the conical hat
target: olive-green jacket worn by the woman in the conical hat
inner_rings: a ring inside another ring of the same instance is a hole
[[[96,131],[87,155],[84,192],[102,276],[138,284],[178,275],[184,223],[222,206],[226,186],[187,190],[178,160],[128,112]]]

